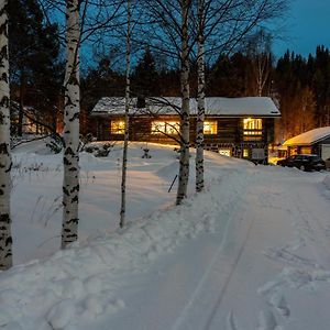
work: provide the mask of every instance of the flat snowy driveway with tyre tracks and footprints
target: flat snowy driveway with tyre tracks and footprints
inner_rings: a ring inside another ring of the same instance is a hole
[[[157,262],[133,294],[120,290],[127,309],[109,320],[113,329],[328,329],[330,206],[321,177],[257,167],[249,182],[219,215],[221,229]]]

